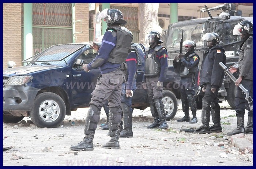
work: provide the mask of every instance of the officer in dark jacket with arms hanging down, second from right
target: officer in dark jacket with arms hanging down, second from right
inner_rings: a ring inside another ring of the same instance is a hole
[[[203,55],[202,67],[200,71],[200,83],[204,97],[202,99],[202,123],[194,133],[221,132],[221,117],[218,99],[218,90],[221,87],[224,71],[219,66],[219,62],[226,64],[225,49],[221,45],[219,35],[215,32],[206,33],[202,40],[207,41],[207,51]],[[212,111],[211,111],[212,109]],[[211,114],[210,114],[211,113]],[[212,115],[213,126],[209,126],[210,115]]]

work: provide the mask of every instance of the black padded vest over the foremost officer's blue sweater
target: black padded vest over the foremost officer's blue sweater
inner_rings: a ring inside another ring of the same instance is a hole
[[[121,64],[125,62],[129,50],[131,49],[132,36],[121,27],[108,27],[106,31],[108,30],[117,31],[116,46],[110,52],[108,62]]]

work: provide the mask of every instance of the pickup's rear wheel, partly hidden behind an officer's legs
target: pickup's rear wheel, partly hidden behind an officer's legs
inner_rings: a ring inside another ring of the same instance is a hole
[[[178,109],[176,96],[169,90],[163,90],[162,103],[166,113],[166,120],[173,119]]]

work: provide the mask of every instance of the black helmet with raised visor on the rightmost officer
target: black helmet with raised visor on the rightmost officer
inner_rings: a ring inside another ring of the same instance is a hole
[[[241,33],[253,34],[253,23],[249,20],[243,20],[233,29],[233,35],[240,35]]]

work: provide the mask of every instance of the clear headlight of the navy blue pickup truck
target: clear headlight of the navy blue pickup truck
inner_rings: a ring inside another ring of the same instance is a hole
[[[11,76],[4,86],[21,86],[28,83],[31,79],[33,79],[33,76],[30,75]]]

